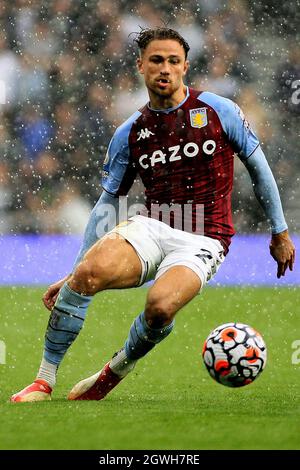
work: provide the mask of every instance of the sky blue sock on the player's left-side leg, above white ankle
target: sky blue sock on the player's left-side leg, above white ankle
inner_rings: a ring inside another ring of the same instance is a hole
[[[78,294],[65,282],[51,312],[46,335],[44,358],[59,365],[80,332],[92,297]]]

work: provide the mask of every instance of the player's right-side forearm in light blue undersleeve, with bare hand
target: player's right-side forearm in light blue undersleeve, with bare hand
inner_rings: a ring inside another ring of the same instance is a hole
[[[293,270],[295,246],[289,237],[277,184],[260,147],[243,161],[252,180],[254,193],[271,223],[270,253],[277,262],[277,277]]]

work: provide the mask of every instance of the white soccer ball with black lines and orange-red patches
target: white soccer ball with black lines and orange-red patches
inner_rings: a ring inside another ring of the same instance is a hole
[[[251,326],[225,323],[210,333],[202,356],[213,379],[227,387],[243,387],[263,371],[267,348],[261,335]]]

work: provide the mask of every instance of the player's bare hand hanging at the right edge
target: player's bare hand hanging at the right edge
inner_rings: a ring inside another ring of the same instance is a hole
[[[270,253],[277,262],[277,277],[285,275],[287,268],[293,271],[295,262],[295,246],[289,237],[288,231],[272,235]]]

